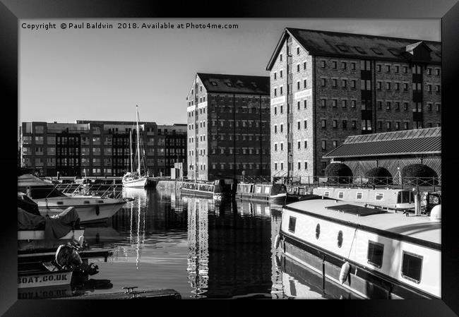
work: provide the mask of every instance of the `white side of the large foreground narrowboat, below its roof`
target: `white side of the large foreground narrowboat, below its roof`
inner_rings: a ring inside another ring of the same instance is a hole
[[[290,219],[296,225],[290,229]],[[319,228],[319,229],[317,229]],[[340,239],[342,246],[338,246]],[[421,246],[411,241],[387,237],[384,232],[368,232],[349,224],[317,217],[307,212],[284,208],[280,229],[280,249],[288,258],[323,273],[329,280],[342,285],[364,298],[439,299],[441,250],[437,246]],[[371,265],[367,260],[369,241],[384,245],[383,266]],[[352,248],[353,246],[353,248]],[[352,249],[351,249],[352,248]],[[350,251],[352,250],[352,252]],[[422,279],[419,283],[401,274],[403,251],[422,254]],[[350,275],[340,283],[340,271],[349,262]]]

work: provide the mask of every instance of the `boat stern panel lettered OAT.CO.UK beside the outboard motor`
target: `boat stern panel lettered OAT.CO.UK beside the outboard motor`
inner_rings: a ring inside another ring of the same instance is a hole
[[[18,288],[69,285],[72,271],[18,273]]]

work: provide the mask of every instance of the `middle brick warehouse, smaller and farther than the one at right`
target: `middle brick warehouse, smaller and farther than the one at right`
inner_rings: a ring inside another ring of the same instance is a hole
[[[270,175],[269,78],[197,73],[189,90],[188,178]]]

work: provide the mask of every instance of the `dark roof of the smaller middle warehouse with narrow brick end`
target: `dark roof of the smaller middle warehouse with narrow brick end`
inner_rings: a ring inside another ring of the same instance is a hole
[[[270,95],[269,76],[198,73],[208,92]]]

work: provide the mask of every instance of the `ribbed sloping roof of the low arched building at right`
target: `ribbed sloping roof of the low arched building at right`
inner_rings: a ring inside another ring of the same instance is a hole
[[[437,134],[437,130],[429,130],[435,129],[400,131],[394,133],[391,138],[384,138],[389,133],[350,136],[338,148],[323,155],[323,158],[441,154],[441,134]],[[402,132],[406,133],[405,138]],[[372,138],[365,140],[369,136]]]

